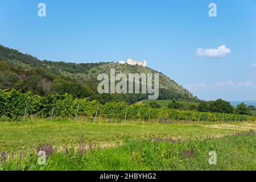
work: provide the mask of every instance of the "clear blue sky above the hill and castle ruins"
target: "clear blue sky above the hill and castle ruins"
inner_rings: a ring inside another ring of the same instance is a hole
[[[147,60],[203,100],[256,100],[255,20],[256,0],[0,0],[0,44],[42,60]]]

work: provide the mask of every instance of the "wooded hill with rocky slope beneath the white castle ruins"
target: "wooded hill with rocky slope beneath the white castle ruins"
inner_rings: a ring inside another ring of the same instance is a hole
[[[74,97],[90,97],[104,101],[134,103],[147,99],[146,94],[98,94],[99,73],[159,73],[154,69],[118,63],[65,63],[39,60],[0,45],[0,89],[15,88],[47,96],[51,93],[71,93]],[[198,100],[187,89],[159,73],[159,100]]]

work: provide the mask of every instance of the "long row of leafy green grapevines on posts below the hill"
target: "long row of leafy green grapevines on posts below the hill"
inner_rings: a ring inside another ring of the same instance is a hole
[[[71,94],[52,94],[47,97],[20,93],[18,90],[0,90],[0,116],[11,119],[23,117],[39,118],[87,118],[97,121],[98,118],[137,121],[256,121],[256,117],[240,114],[203,113],[198,111],[181,111],[175,109],[151,109],[150,107],[125,102],[106,102],[102,105],[88,98],[73,98]]]

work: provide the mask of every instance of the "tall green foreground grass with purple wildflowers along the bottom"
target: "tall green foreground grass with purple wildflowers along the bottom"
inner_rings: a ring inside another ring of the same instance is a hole
[[[1,152],[0,170],[256,170],[255,132],[197,140],[130,139],[121,146],[99,148],[81,137],[79,148],[48,150],[46,165],[39,165],[38,150],[18,155]],[[51,151],[51,152],[49,152]],[[209,151],[217,153],[210,165]]]

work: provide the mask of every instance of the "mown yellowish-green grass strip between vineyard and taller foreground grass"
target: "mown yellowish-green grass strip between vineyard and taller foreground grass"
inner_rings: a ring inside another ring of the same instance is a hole
[[[22,147],[36,147],[37,144],[51,143],[56,146],[76,146],[80,137],[103,146],[121,143],[125,137],[148,138],[200,138],[221,137],[238,131],[256,130],[254,123],[166,124],[166,123],[94,123],[71,120],[43,119],[26,122],[0,122],[0,151],[21,150]]]

